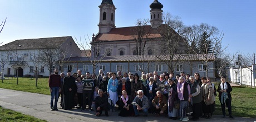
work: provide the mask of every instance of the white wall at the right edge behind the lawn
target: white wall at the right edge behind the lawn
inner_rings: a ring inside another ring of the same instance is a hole
[[[250,67],[230,67],[227,70],[228,80],[240,85],[252,86],[255,88],[256,65]]]

